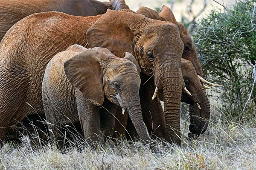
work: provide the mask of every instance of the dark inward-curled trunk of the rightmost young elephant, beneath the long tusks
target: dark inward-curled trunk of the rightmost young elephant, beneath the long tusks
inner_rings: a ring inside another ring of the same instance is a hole
[[[210,119],[210,104],[207,97],[207,94],[204,89],[202,89],[203,94],[201,95],[200,104],[201,110],[198,108],[198,105],[189,106],[189,115],[190,115],[190,125],[189,131],[193,134],[200,135],[207,130],[208,121]]]

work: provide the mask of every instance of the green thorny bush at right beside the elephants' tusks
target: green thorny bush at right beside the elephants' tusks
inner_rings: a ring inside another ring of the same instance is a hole
[[[212,88],[212,96],[239,120],[256,110],[255,15],[256,0],[240,0],[230,9],[211,11],[195,28],[204,76],[222,85]]]

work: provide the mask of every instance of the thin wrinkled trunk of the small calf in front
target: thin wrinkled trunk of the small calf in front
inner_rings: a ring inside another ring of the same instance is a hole
[[[131,105],[127,107],[128,115],[131,118],[131,122],[133,123],[140,139],[148,143],[150,141],[149,135],[147,133],[145,124],[143,122],[141,107],[140,107],[140,99],[131,102]]]

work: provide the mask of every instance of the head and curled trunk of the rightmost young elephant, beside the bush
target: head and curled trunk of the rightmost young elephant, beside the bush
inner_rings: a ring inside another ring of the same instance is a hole
[[[210,117],[210,104],[206,91],[201,84],[198,74],[195,71],[192,62],[186,59],[181,60],[181,71],[186,88],[192,94],[191,96],[182,93],[181,102],[188,103],[190,125],[189,131],[192,134],[200,135],[207,130]]]

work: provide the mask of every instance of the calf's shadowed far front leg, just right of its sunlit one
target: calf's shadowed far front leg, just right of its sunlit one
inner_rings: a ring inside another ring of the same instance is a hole
[[[102,132],[102,138],[105,139],[108,136],[113,135],[113,130],[115,127],[116,105],[106,99],[102,106],[104,108],[101,108],[99,112],[101,122],[100,131]]]

